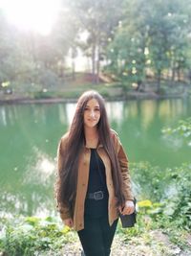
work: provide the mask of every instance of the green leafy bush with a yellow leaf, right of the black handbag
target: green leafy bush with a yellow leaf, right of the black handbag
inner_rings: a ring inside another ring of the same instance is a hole
[[[160,171],[148,163],[132,165],[133,180],[141,184],[135,188],[141,199],[151,201],[139,202],[140,211],[153,220],[166,216],[177,226],[191,228],[191,165],[183,164],[179,168]],[[139,198],[140,199],[140,198]],[[157,203],[156,203],[157,202]],[[159,202],[159,203],[158,203]]]

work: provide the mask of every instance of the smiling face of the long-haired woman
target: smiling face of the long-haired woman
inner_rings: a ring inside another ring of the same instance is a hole
[[[100,119],[100,107],[96,99],[88,101],[84,109],[84,126],[95,128]]]

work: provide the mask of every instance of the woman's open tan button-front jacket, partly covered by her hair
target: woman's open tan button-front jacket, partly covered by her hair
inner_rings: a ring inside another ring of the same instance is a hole
[[[117,157],[119,161],[119,165],[121,167],[121,175],[123,179],[123,194],[126,200],[133,199],[134,196],[131,191],[131,179],[128,170],[128,159],[122,148],[122,145],[119,141],[116,131],[111,130],[112,137],[114,139]],[[58,147],[58,171],[62,168],[62,159],[64,157],[64,151],[66,149],[68,134],[65,134],[61,140]],[[118,212],[117,212],[117,198],[115,197],[114,184],[112,180],[112,172],[111,172],[111,162],[110,159],[104,150],[102,145],[98,145],[97,153],[102,159],[105,165],[105,173],[106,173],[106,184],[109,193],[108,199],[108,218],[109,223],[112,223],[117,220]],[[86,198],[86,192],[88,188],[88,180],[89,180],[89,166],[90,166],[90,156],[91,150],[84,146],[83,151],[79,157],[79,166],[78,166],[78,177],[77,177],[77,189],[76,189],[76,198],[74,203],[74,229],[76,231],[84,228],[84,203]],[[59,175],[58,175],[59,176]],[[72,218],[71,213],[67,207],[59,207],[60,217],[62,221]]]

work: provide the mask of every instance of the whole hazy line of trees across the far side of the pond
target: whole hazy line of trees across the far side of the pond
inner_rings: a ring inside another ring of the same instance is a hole
[[[0,84],[16,91],[57,89],[75,78],[77,50],[91,79],[143,89],[191,82],[191,0],[63,0],[50,35],[21,32],[0,10]],[[66,8],[67,7],[67,8]],[[86,33],[86,40],[81,36]],[[73,65],[69,68],[66,59]]]

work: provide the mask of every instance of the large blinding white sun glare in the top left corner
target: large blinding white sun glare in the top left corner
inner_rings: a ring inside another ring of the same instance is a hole
[[[61,0],[1,0],[0,7],[18,29],[48,35],[60,11]]]

